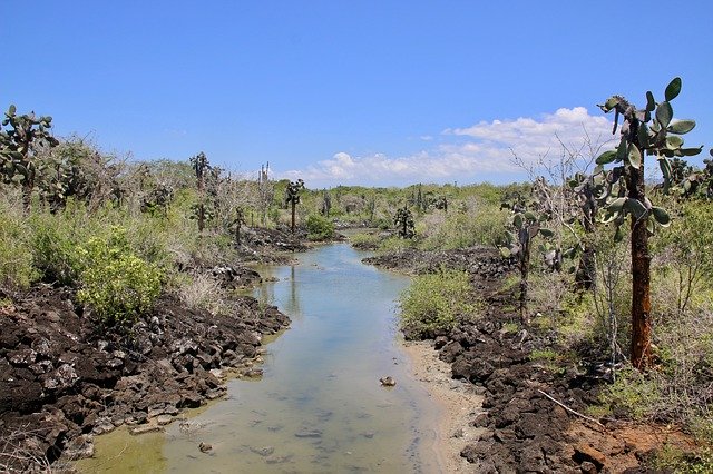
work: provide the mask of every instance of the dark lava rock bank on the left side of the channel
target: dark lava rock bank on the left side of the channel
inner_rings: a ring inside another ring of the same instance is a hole
[[[164,295],[118,335],[82,317],[68,288],[9,296],[0,295],[0,465],[17,471],[90,456],[94,435],[152,431],[223,396],[223,375],[260,376],[262,336],[290,324],[252,297],[235,297],[228,317]]]

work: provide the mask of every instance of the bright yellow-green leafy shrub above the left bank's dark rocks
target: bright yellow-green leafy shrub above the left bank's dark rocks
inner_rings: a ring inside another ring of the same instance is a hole
[[[160,294],[160,271],[131,251],[125,229],[89,239],[79,253],[85,268],[77,297],[104,325],[130,327]]]

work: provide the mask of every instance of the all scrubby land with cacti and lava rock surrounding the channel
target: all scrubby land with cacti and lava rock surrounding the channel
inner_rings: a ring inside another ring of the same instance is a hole
[[[702,148],[673,119],[681,86],[607,99],[614,142],[563,144],[509,186],[319,190],[204,154],[137,162],[10,107],[0,466],[57,467],[92,434],[219,397],[227,372],[260,376],[261,338],[289,318],[241,295],[260,280],[246,264],[359,227],[370,263],[414,275],[406,337],[484,394],[461,451],[476,472],[713,468],[713,166],[686,162]]]

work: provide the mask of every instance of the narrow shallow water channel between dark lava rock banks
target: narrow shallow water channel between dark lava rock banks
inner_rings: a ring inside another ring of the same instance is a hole
[[[267,344],[261,379],[228,382],[226,399],[169,425],[97,440],[87,472],[437,472],[436,403],[399,349],[395,299],[408,278],[361,263],[346,244],[263,267],[255,290],[292,318]],[[380,385],[390,375],[395,387]],[[212,445],[203,453],[199,443]],[[124,446],[124,447],[123,447]],[[114,453],[125,450],[123,455]],[[82,470],[84,470],[82,467]]]

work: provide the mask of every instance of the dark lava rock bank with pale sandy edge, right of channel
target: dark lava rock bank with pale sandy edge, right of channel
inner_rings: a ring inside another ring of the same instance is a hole
[[[428,361],[423,354],[428,345],[446,363],[430,365],[431,371],[440,367],[440,374],[428,374],[423,367],[414,367],[414,374],[449,414],[437,450],[447,460],[448,472],[637,473],[647,472],[642,465],[662,446],[693,447],[691,438],[675,428],[583,415],[596,403],[606,374],[594,361],[554,369],[531,357],[536,349],[556,350],[554,335],[514,329],[515,295],[500,289],[510,268],[495,251],[410,249],[368,261],[410,274],[441,265],[467,270],[486,303],[478,320],[417,343],[420,349],[413,356],[414,364]],[[445,375],[467,382],[472,393],[482,395],[482,404],[459,398],[465,389],[446,385]],[[453,440],[458,437],[465,442]],[[455,461],[457,456],[469,465]]]

